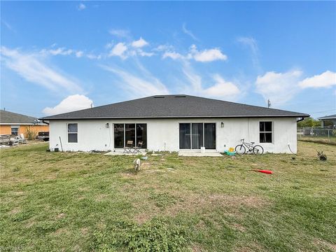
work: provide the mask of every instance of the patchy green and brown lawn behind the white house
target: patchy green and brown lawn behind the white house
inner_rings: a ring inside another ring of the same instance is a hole
[[[297,155],[236,159],[165,153],[138,174],[130,156],[46,148],[1,150],[1,251],[336,250],[336,146],[300,141]]]

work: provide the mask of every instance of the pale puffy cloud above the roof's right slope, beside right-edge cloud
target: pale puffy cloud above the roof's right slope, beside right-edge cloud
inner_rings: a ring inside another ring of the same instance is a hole
[[[286,73],[269,71],[258,76],[255,81],[256,91],[262,94],[265,101],[270,99],[272,104],[284,104],[292,99],[299,91],[297,86],[302,71],[294,70]]]

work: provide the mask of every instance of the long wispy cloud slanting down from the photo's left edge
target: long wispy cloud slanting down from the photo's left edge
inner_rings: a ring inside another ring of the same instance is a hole
[[[15,71],[30,83],[42,85],[53,91],[83,92],[76,80],[45,64],[41,55],[22,53],[17,49],[1,46],[1,60],[8,69]]]

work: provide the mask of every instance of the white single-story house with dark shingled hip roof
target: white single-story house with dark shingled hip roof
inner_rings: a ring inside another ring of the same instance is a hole
[[[127,141],[149,151],[225,151],[254,141],[270,153],[297,151],[297,118],[305,113],[189,95],[157,95],[41,118],[50,149],[118,151]],[[62,143],[61,143],[61,141]]]

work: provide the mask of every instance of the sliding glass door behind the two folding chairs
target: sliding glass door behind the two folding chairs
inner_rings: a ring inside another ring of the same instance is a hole
[[[146,123],[114,124],[114,148],[124,148],[127,141],[133,141],[133,146],[142,141],[142,148],[147,148]]]

